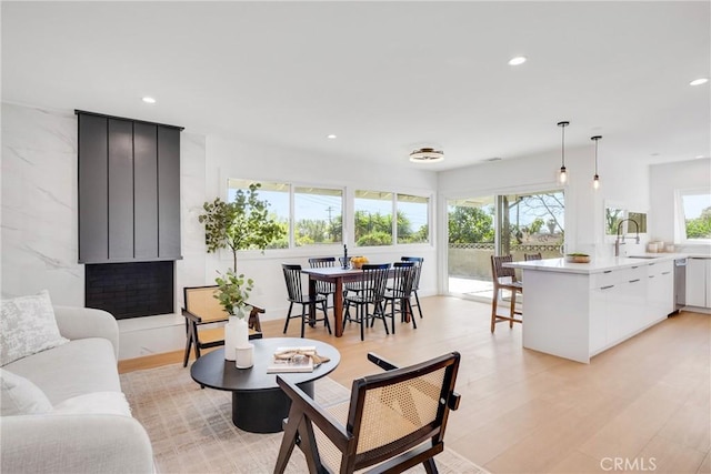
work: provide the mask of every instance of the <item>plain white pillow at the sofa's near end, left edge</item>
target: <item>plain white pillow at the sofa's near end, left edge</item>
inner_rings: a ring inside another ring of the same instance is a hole
[[[52,404],[29,380],[0,369],[0,413],[2,416],[49,413]]]

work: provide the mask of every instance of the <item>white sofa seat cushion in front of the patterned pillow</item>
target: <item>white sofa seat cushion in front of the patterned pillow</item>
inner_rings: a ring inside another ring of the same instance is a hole
[[[121,392],[113,345],[103,337],[70,341],[4,369],[31,380],[52,405],[91,392]]]

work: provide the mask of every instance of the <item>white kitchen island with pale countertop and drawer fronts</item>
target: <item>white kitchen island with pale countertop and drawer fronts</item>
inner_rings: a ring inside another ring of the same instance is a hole
[[[522,270],[523,346],[589,363],[663,321],[674,310],[674,258],[507,264]]]

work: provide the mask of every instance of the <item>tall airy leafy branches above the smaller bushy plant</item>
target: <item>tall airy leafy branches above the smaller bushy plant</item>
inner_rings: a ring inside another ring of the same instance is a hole
[[[250,184],[248,190],[238,190],[233,202],[217,198],[202,205],[203,214],[198,216],[204,224],[204,241],[208,252],[219,249],[232,251],[232,270],[237,271],[237,252],[258,249],[262,252],[274,240],[284,235],[284,229],[269,216],[269,202],[259,199],[260,183]]]

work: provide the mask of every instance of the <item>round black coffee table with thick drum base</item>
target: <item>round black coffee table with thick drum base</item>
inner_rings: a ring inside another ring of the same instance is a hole
[[[277,433],[289,415],[291,400],[277,384],[277,374],[268,374],[277,347],[316,346],[317,353],[330,359],[307,373],[279,374],[296,382],[313,397],[313,382],[331,373],[341,361],[336,347],[321,341],[301,337],[266,337],[254,344],[254,365],[237,369],[234,361],[224,360],[224,347],[198,359],[190,367],[190,376],[200,385],[232,392],[232,422],[252,433]]]

